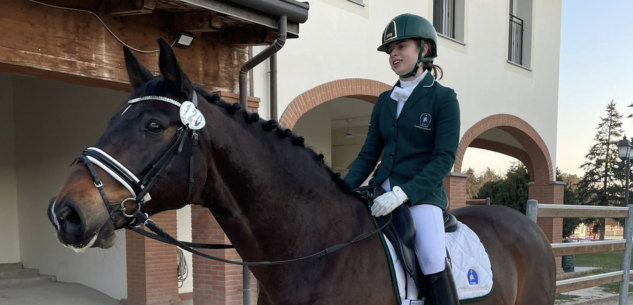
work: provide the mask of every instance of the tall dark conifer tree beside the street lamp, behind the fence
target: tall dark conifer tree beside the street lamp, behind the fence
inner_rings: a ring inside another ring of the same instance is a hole
[[[617,142],[622,137],[622,116],[615,109],[613,100],[607,105],[606,117],[600,119],[595,143],[585,156],[586,162],[580,166],[585,174],[578,183],[578,194],[585,205],[621,205],[624,168],[618,157]],[[600,230],[600,240],[604,240],[605,219],[586,221],[594,223],[594,230]]]

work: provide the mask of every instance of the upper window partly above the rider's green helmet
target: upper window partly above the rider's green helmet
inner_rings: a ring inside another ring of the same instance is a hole
[[[433,26],[440,36],[464,42],[465,0],[433,0]]]

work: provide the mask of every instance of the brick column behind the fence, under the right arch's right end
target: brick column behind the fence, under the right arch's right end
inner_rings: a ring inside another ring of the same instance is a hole
[[[564,198],[563,182],[551,181],[545,183],[531,183],[529,188],[529,199],[535,199],[539,203],[563,204]],[[538,225],[541,227],[550,243],[560,243],[563,240],[563,219],[562,218],[539,218]],[[556,273],[562,273],[561,257],[556,257]]]

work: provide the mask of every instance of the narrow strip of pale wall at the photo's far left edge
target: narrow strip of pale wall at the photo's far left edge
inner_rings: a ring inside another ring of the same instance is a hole
[[[13,83],[0,73],[0,264],[20,261]]]

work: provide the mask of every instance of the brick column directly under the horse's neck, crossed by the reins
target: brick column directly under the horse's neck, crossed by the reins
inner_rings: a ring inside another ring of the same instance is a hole
[[[229,244],[207,208],[191,206],[191,237],[194,243]],[[224,259],[240,261],[235,250],[201,250]],[[194,305],[241,305],[242,266],[193,256]],[[251,304],[257,304],[257,281],[251,275]]]

